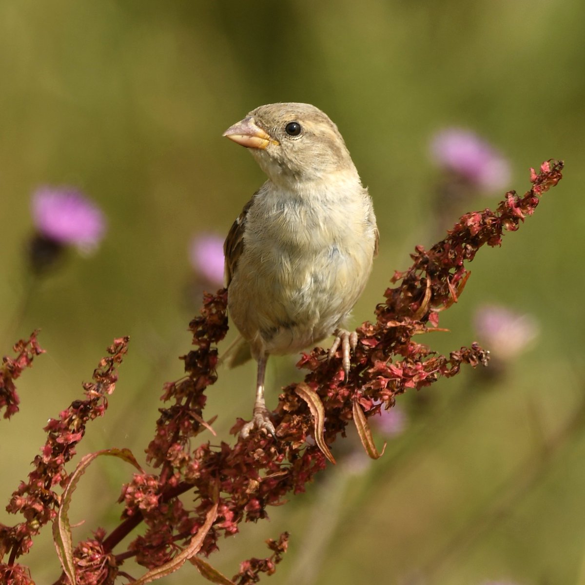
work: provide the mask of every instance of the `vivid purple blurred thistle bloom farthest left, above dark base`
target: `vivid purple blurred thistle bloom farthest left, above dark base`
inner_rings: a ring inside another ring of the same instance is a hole
[[[41,187],[32,197],[33,221],[40,234],[57,244],[95,249],[104,237],[104,214],[71,187]]]

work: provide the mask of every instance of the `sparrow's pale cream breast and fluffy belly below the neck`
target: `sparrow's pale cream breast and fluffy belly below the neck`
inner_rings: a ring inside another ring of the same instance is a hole
[[[341,194],[266,197],[250,208],[245,252],[229,290],[230,305],[238,305],[230,311],[246,338],[287,353],[332,333],[371,270],[375,226],[367,204],[369,198]]]

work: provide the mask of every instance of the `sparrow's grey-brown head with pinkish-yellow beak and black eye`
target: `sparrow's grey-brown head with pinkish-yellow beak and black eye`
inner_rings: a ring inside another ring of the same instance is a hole
[[[357,175],[337,126],[311,104],[260,106],[223,136],[247,147],[270,180],[285,187]]]

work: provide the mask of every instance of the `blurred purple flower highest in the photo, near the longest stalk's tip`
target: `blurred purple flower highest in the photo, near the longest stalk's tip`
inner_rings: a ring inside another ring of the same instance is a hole
[[[508,161],[469,130],[446,128],[436,133],[431,141],[431,156],[439,167],[476,187],[503,188],[510,180]]]

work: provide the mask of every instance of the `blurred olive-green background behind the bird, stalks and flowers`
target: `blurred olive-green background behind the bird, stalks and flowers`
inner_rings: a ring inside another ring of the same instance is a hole
[[[286,529],[290,551],[271,583],[585,583],[584,23],[580,0],[0,1],[2,328],[25,294],[36,187],[75,185],[109,223],[98,252],[47,277],[2,339],[5,354],[41,328],[47,354],[20,380],[20,413],[0,424],[1,499],[115,336],[131,336],[130,352],[80,452],[128,447],[144,461],[161,384],[181,376],[199,306],[188,243],[224,235],[264,180],[221,134],[258,105],[311,102],[338,124],[377,212],[380,256],[355,325],[372,318],[414,246],[438,239],[433,132],[484,136],[521,192],[529,167],[565,160],[566,178],[536,215],[478,254],[442,316],[450,332],[426,341],[442,352],[468,345],[486,302],[534,315],[541,333],[492,381],[470,370],[399,397],[407,425],[384,457],[364,462],[350,436],[335,445],[339,466],[209,560],[231,576]],[[461,201],[452,222],[501,195]],[[295,360],[270,364],[269,403],[300,379]],[[221,371],[209,390],[221,438],[233,441],[227,429],[249,416],[253,380],[249,364]],[[94,464],[74,500],[72,522],[87,519],[74,538],[116,525],[128,474]],[[0,511],[1,522],[16,519]],[[21,559],[37,583],[59,574],[48,533]],[[198,579],[185,566],[166,582]]]

